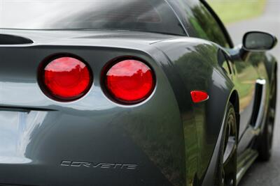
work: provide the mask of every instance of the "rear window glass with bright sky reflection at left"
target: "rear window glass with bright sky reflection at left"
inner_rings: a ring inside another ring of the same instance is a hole
[[[125,29],[186,36],[162,0],[0,0],[2,29]]]

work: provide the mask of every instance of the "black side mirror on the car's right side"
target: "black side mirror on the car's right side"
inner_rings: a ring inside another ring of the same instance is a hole
[[[267,51],[275,47],[276,43],[275,36],[261,31],[250,31],[243,37],[243,48],[248,52]]]

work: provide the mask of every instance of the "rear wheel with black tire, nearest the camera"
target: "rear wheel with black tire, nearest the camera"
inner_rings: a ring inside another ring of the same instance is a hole
[[[220,185],[237,185],[237,120],[235,108],[228,103],[223,126],[221,148],[221,183]]]

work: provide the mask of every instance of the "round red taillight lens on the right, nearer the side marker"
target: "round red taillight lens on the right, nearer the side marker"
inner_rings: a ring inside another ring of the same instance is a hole
[[[153,72],[141,61],[120,61],[106,73],[106,88],[120,102],[141,102],[151,95],[154,87]]]

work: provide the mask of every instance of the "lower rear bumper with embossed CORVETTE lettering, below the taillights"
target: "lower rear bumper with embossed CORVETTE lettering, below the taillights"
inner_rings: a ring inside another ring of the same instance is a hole
[[[0,185],[183,183],[180,114],[172,92],[161,92],[165,102],[153,96],[135,107],[3,107]]]

